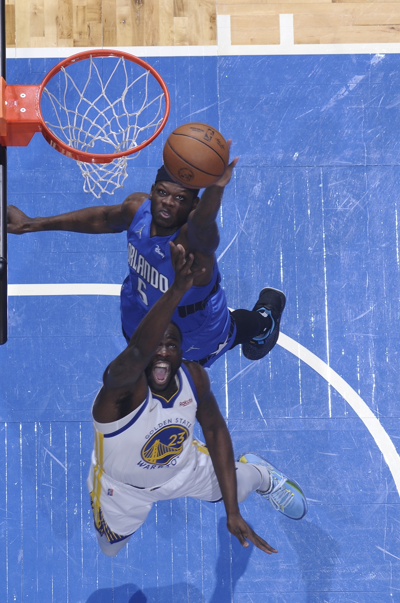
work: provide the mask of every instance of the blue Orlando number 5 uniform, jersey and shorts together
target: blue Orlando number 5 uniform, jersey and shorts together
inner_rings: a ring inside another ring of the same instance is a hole
[[[122,327],[129,337],[149,309],[167,291],[175,278],[169,241],[171,236],[150,236],[151,201],[147,199],[128,228],[129,274],[121,289]],[[203,287],[192,287],[184,294],[172,320],[183,334],[183,356],[210,366],[229,348],[234,336],[225,292],[214,261],[213,277]]]

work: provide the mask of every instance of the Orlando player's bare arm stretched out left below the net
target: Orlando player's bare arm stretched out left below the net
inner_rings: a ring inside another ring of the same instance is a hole
[[[86,207],[75,212],[61,213],[58,216],[37,218],[30,218],[18,207],[9,205],[8,232],[13,235],[41,230],[68,230],[95,235],[122,232],[127,230],[137,207],[147,196],[146,193],[134,193],[119,205]]]

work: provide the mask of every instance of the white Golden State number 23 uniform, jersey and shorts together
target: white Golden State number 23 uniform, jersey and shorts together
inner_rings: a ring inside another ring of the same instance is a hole
[[[87,487],[99,534],[111,543],[132,534],[157,500],[222,496],[207,447],[193,438],[198,397],[185,364],[170,400],[152,394],[113,423],[95,423]]]

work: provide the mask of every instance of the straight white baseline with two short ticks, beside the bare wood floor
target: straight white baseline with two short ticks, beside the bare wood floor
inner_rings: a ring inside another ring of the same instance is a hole
[[[398,54],[399,42],[378,42],[365,44],[295,44],[293,14],[279,16],[279,44],[232,44],[231,16],[217,14],[217,45],[210,46],[107,46],[110,50],[120,50],[136,57],[213,57],[245,55],[283,54]],[[101,46],[91,46],[93,50]],[[85,46],[82,50],[87,50]],[[78,54],[80,48],[72,46],[48,46],[44,48],[7,48],[7,58],[64,58]]]

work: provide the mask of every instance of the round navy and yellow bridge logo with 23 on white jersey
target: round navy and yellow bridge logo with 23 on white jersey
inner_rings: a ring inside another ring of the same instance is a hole
[[[167,465],[180,455],[189,431],[182,425],[167,425],[146,442],[142,448],[142,459],[152,465]]]

